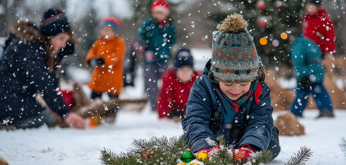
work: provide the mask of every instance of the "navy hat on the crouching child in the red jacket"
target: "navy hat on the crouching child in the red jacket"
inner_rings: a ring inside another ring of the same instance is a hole
[[[191,66],[193,67],[193,58],[189,49],[180,48],[176,52],[175,60],[174,60],[174,71],[183,66]]]

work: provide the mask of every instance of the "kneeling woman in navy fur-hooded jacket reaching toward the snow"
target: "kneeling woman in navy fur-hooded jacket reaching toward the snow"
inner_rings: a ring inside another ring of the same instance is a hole
[[[84,128],[82,117],[67,110],[67,105],[54,83],[59,64],[58,52],[73,40],[65,13],[48,9],[40,29],[34,23],[19,21],[13,27],[16,35],[0,58],[0,119],[5,129],[33,128],[46,123],[52,126],[54,117],[35,99],[37,93],[49,108],[74,128]]]

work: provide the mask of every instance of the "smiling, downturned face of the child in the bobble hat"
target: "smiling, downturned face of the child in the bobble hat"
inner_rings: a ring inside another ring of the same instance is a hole
[[[241,96],[249,91],[251,82],[241,84],[230,84],[226,82],[220,82],[221,91],[231,100],[237,100]]]

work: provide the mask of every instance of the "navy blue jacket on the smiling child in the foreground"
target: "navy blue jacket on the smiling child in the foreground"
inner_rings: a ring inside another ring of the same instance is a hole
[[[276,148],[268,148],[275,156],[280,152],[278,131],[273,125],[273,107],[271,106],[270,89],[262,81],[260,104],[256,104],[252,94],[242,105],[233,122],[225,123],[222,114],[222,100],[219,99],[215,82],[208,78],[210,60],[203,74],[194,82],[186,108],[186,116],[182,120],[184,135],[192,152],[203,148],[210,149],[207,138],[218,143],[219,138],[226,140],[229,148],[239,148],[244,144],[267,149],[271,139]],[[273,137],[272,137],[273,135]],[[276,141],[276,142],[274,142]],[[218,145],[218,144],[217,144]]]

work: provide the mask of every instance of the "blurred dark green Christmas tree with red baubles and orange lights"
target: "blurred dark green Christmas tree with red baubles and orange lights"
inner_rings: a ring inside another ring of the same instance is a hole
[[[248,20],[247,29],[254,38],[257,53],[263,62],[269,62],[272,67],[291,65],[287,32],[291,27],[300,27],[300,20],[304,15],[303,1],[230,0],[224,1],[226,3],[227,8],[210,14],[209,19],[220,23],[229,14],[242,14]]]

